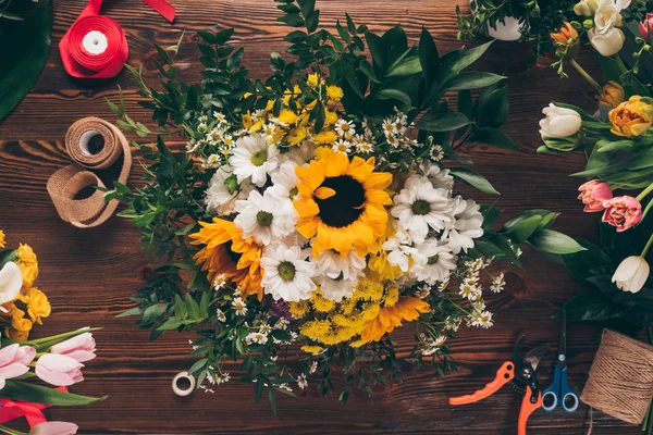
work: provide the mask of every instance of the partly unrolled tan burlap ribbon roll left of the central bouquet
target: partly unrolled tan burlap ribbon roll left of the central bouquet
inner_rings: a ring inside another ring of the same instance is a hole
[[[102,137],[103,147],[95,150],[91,149],[91,146],[97,136]],[[110,167],[122,154],[124,154],[124,160],[118,182],[126,184],[132,170],[130,142],[116,126],[91,116],[84,117],[71,125],[65,135],[65,149],[76,164],[63,167],[52,174],[48,179],[48,194],[63,221],[79,228],[98,226],[111,217],[119,202],[111,200],[106,203],[104,194],[99,190],[84,199],[75,199],[75,196],[89,186],[106,187],[102,181],[90,171]]]

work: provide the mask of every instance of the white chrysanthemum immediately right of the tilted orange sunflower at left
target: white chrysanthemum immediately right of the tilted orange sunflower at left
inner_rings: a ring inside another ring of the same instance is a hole
[[[261,286],[274,300],[298,302],[309,299],[316,289],[312,277],[316,265],[306,260],[307,254],[298,246],[276,244],[268,247],[261,257],[266,272]]]

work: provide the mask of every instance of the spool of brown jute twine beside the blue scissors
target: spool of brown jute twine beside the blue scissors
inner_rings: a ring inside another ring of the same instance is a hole
[[[580,400],[631,424],[641,424],[653,398],[653,346],[604,330]]]

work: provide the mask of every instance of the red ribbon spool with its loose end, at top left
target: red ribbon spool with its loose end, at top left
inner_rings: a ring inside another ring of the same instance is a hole
[[[66,73],[77,78],[112,78],[123,69],[130,55],[125,34],[115,21],[100,15],[103,0],[89,0],[71,28],[59,42],[61,61]],[[165,0],[143,0],[169,22],[174,21],[175,10]],[[90,32],[99,32],[106,38],[106,49],[93,53],[85,48],[84,39]]]

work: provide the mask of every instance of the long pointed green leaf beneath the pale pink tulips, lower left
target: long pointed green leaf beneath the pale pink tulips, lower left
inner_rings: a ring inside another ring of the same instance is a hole
[[[35,403],[54,405],[58,407],[76,407],[101,401],[109,396],[81,396],[26,382],[7,380],[7,385],[0,390],[0,397],[12,400],[32,401]]]

